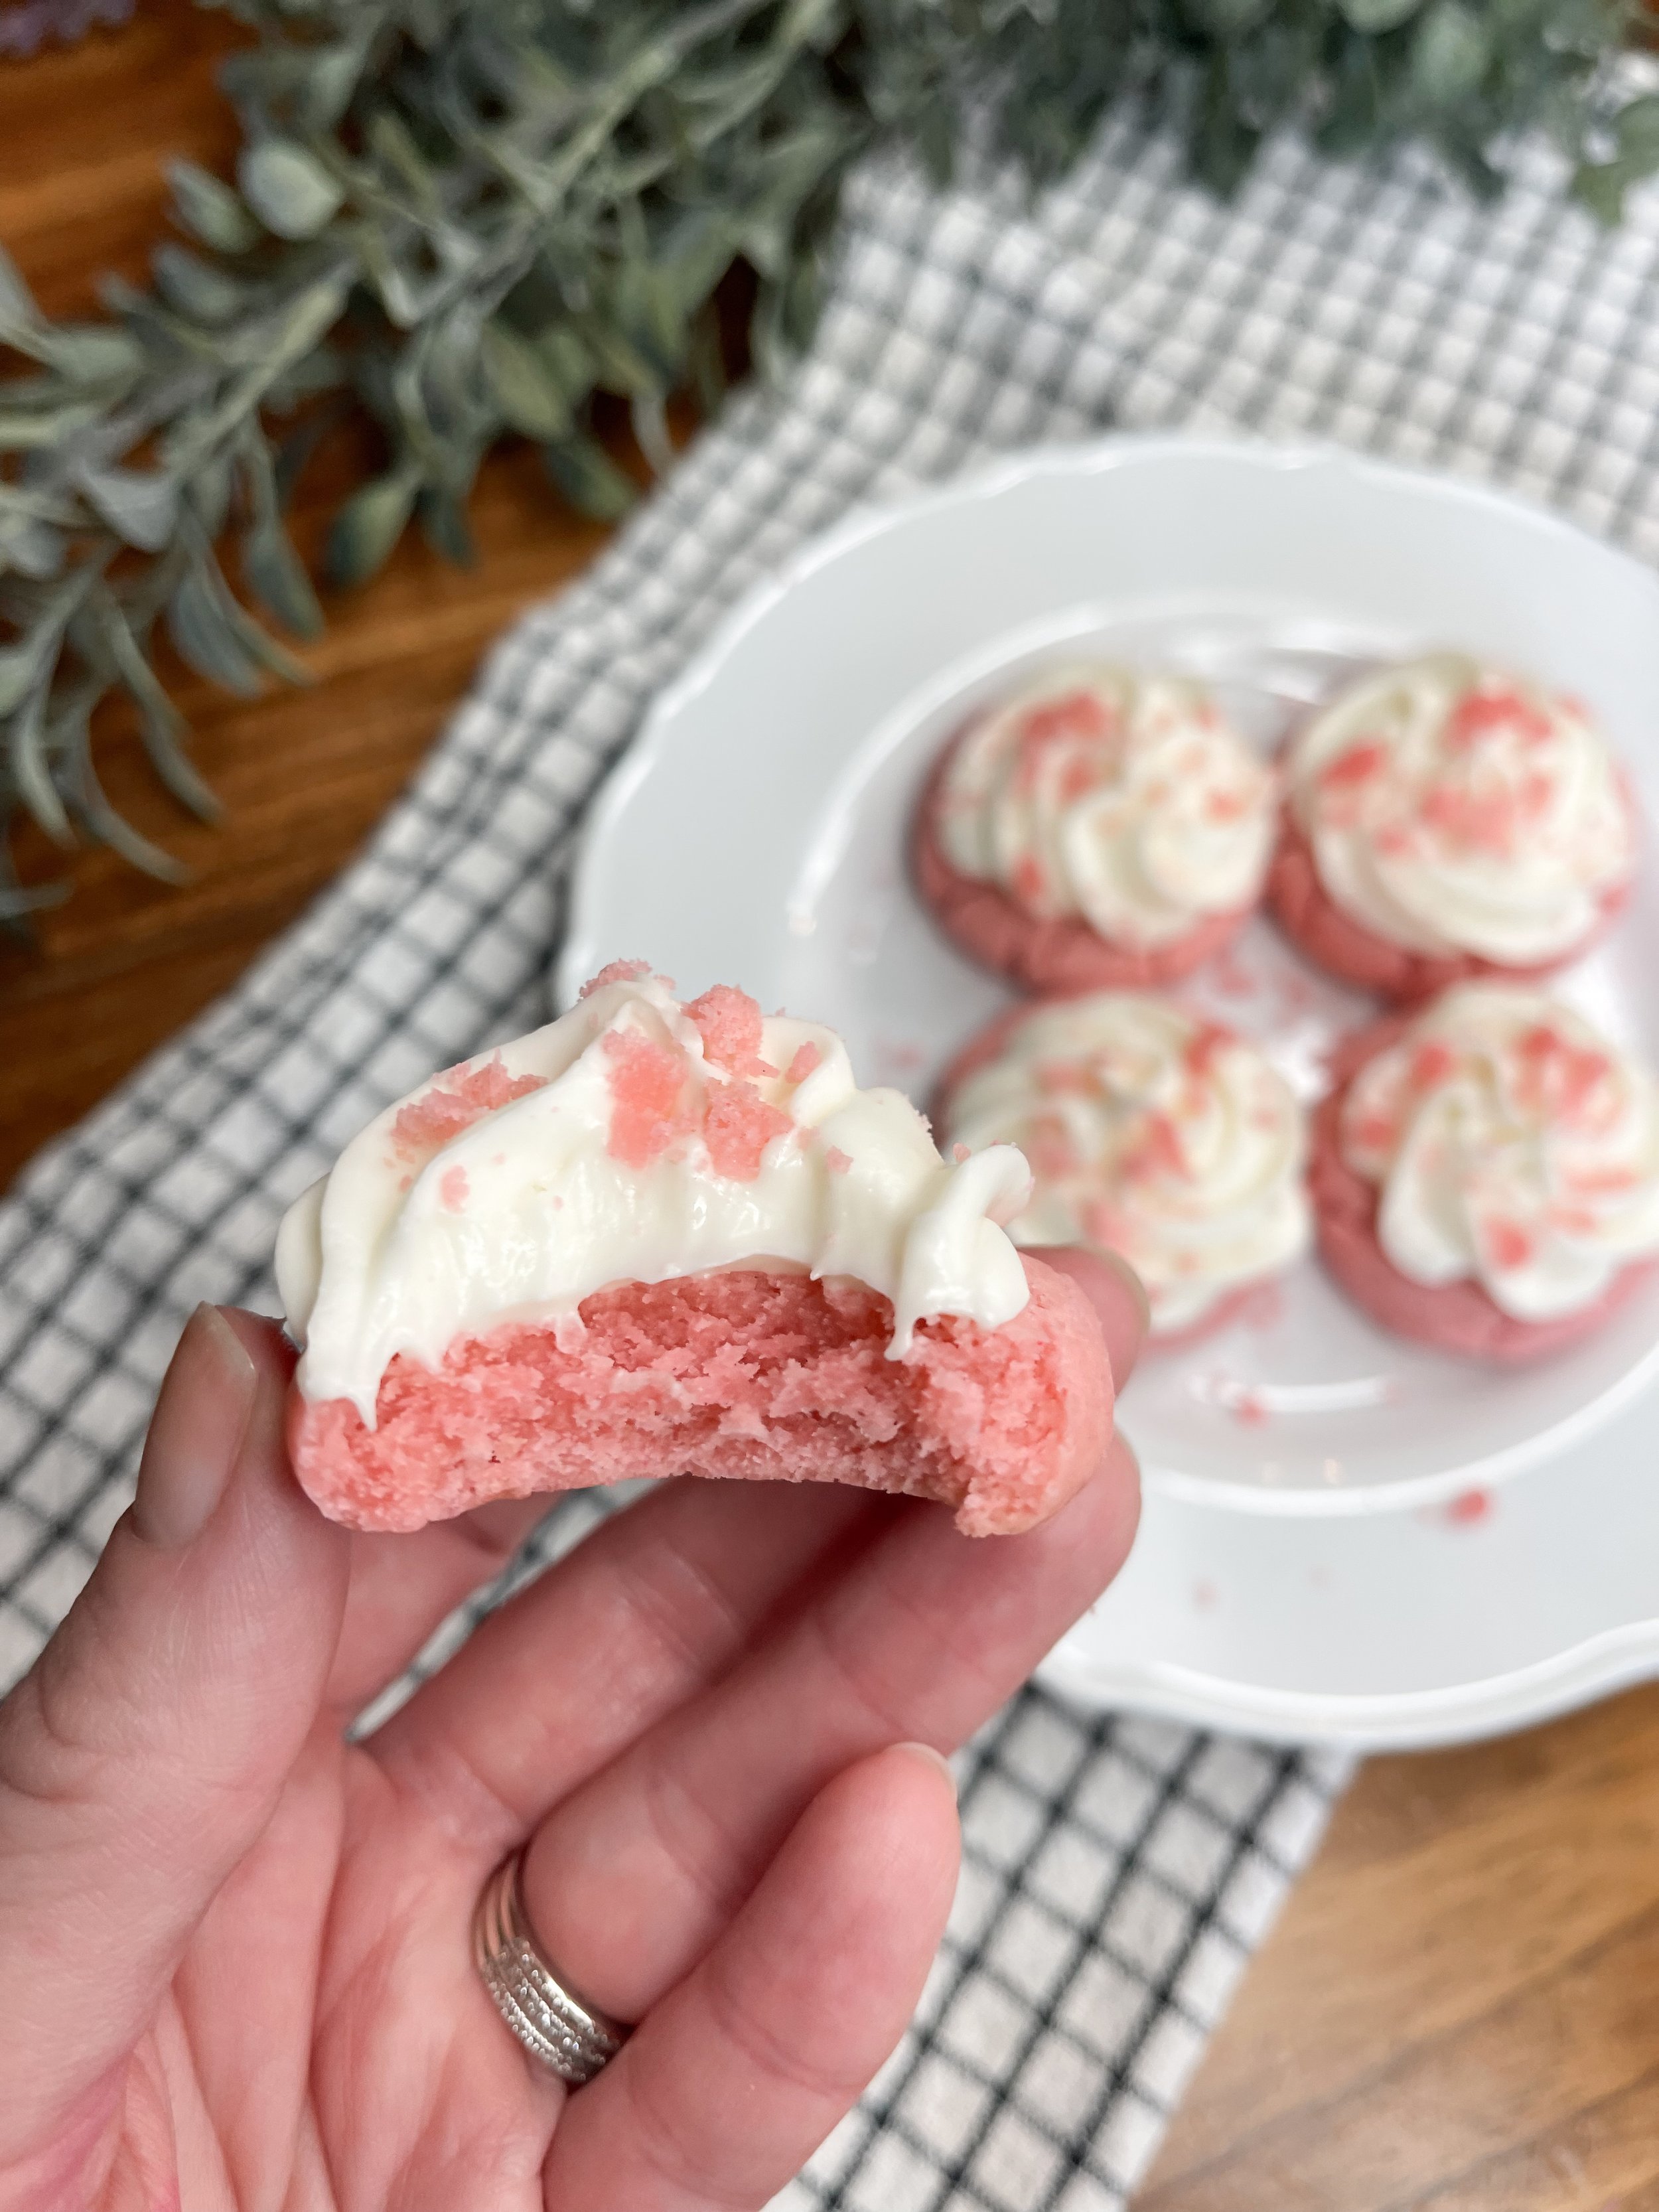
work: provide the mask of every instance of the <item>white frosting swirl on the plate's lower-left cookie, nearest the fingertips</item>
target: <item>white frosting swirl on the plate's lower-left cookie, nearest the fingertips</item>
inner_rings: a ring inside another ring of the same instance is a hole
[[[1099,991],[1040,1006],[947,1115],[949,1137],[1018,1144],[1031,1161],[1015,1243],[1121,1252],[1157,1334],[1307,1250],[1296,1097],[1254,1046],[1175,1000]]]

